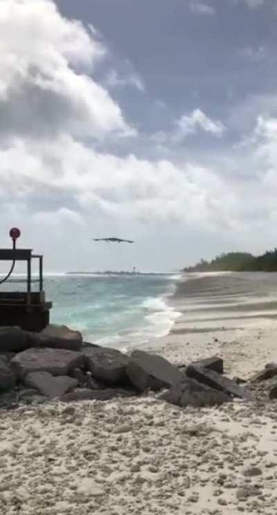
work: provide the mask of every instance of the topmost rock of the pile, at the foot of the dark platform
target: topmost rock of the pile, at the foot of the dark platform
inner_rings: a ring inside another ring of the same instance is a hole
[[[39,333],[29,333],[33,347],[53,347],[54,349],[80,350],[82,334],[72,331],[66,325],[48,325]]]

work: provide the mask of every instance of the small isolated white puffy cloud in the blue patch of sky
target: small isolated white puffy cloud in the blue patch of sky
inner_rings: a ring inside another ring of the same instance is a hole
[[[177,131],[174,139],[175,141],[181,141],[186,136],[199,132],[199,130],[221,137],[225,127],[220,120],[211,120],[201,109],[195,109],[190,114],[181,116],[177,121]]]

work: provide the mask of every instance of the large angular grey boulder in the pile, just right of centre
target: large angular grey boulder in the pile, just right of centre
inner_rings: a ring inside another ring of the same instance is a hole
[[[152,390],[170,388],[181,381],[182,377],[179,369],[169,361],[142,350],[132,352],[126,372],[139,392],[143,392],[146,388]]]

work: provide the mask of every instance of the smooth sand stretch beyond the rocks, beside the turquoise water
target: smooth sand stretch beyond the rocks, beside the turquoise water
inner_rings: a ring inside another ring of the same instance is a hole
[[[175,293],[168,297],[180,313],[170,332],[143,348],[178,365],[217,354],[227,374],[245,379],[275,361],[277,275],[273,284],[262,274],[191,275],[177,281]]]

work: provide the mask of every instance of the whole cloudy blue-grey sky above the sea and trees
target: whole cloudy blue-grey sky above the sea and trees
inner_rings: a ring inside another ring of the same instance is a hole
[[[0,0],[0,246],[18,226],[56,272],[273,249],[276,24],[277,0]]]

